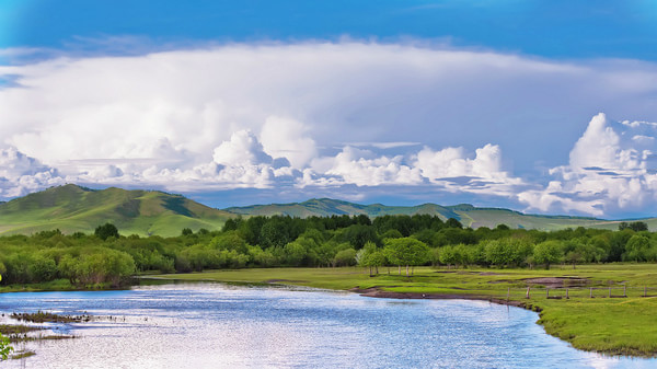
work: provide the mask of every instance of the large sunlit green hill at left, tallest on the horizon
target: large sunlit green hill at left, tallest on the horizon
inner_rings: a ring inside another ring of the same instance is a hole
[[[0,204],[0,234],[60,229],[93,232],[105,222],[122,234],[177,235],[183,228],[220,228],[234,217],[181,195],[158,191],[106,188],[94,191],[68,184]]]

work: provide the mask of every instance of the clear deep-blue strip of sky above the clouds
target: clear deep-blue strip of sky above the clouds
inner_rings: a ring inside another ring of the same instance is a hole
[[[66,47],[78,37],[188,41],[438,39],[543,57],[657,58],[657,5],[613,1],[4,0],[0,46]]]

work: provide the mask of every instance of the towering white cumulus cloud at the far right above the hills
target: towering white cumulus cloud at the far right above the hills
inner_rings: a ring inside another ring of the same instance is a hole
[[[568,165],[550,170],[543,189],[519,194],[541,211],[595,216],[655,205],[657,200],[657,124],[615,123],[596,115],[569,155]]]

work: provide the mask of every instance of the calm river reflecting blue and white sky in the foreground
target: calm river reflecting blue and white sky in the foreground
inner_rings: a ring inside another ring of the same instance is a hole
[[[1,312],[113,315],[58,324],[26,368],[653,368],[546,335],[533,312],[465,300],[221,284],[0,295]]]

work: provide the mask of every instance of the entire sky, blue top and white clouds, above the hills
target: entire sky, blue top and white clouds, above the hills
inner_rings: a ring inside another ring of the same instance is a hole
[[[657,3],[0,0],[0,200],[657,216]]]

